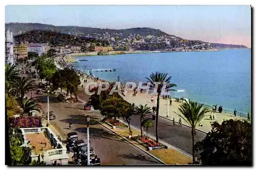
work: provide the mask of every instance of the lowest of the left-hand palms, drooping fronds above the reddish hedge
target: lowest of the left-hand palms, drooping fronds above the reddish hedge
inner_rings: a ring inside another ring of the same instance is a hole
[[[38,111],[40,112],[41,107],[39,104],[35,103],[32,98],[25,98],[22,100],[21,107],[23,108],[23,114],[28,113],[30,114],[30,111]]]

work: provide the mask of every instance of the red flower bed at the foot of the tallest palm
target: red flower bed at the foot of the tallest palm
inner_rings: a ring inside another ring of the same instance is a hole
[[[163,145],[161,143],[157,143],[155,140],[153,140],[149,137],[135,136],[135,137],[132,137],[131,139],[138,142],[139,144],[143,145],[148,150],[151,150],[150,148],[152,148],[153,150],[166,148],[165,145]]]

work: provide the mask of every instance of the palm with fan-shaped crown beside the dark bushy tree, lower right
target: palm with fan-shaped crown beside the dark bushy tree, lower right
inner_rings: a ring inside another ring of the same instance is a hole
[[[183,103],[179,111],[181,114],[178,114],[185,122],[191,127],[191,136],[192,136],[192,153],[193,153],[193,163],[195,163],[195,136],[196,136],[196,127],[205,116],[205,113],[209,112],[208,109],[203,108],[203,104],[197,102],[185,102]]]

